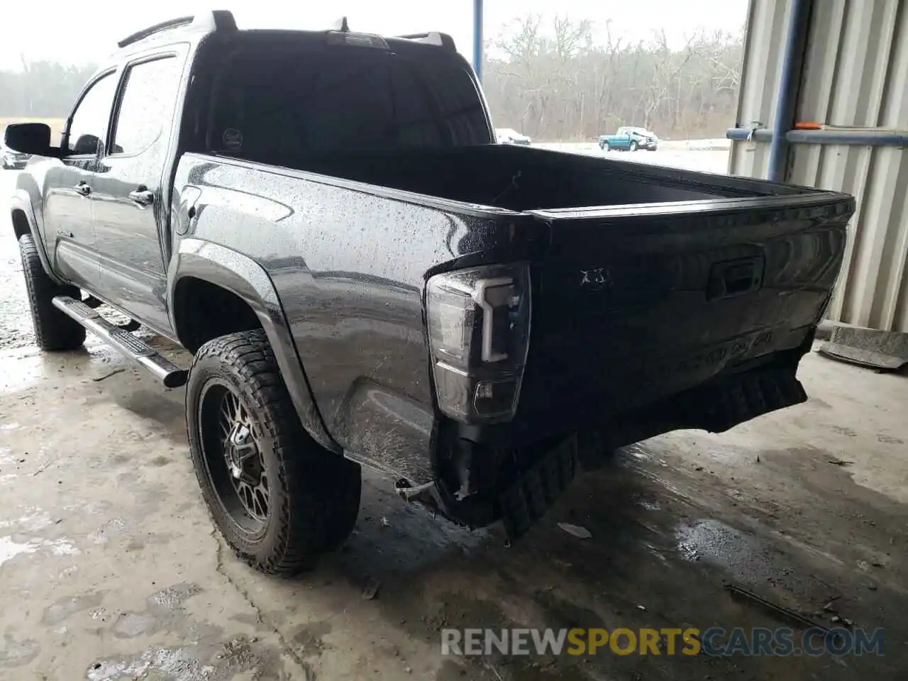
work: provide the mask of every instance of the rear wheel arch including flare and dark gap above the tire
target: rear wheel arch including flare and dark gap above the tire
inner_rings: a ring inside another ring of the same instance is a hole
[[[325,428],[277,291],[258,262],[217,243],[183,239],[168,269],[167,300],[177,339],[193,353],[226,333],[265,331],[303,428],[322,447],[341,451]],[[218,315],[200,320],[193,313],[200,305]]]

